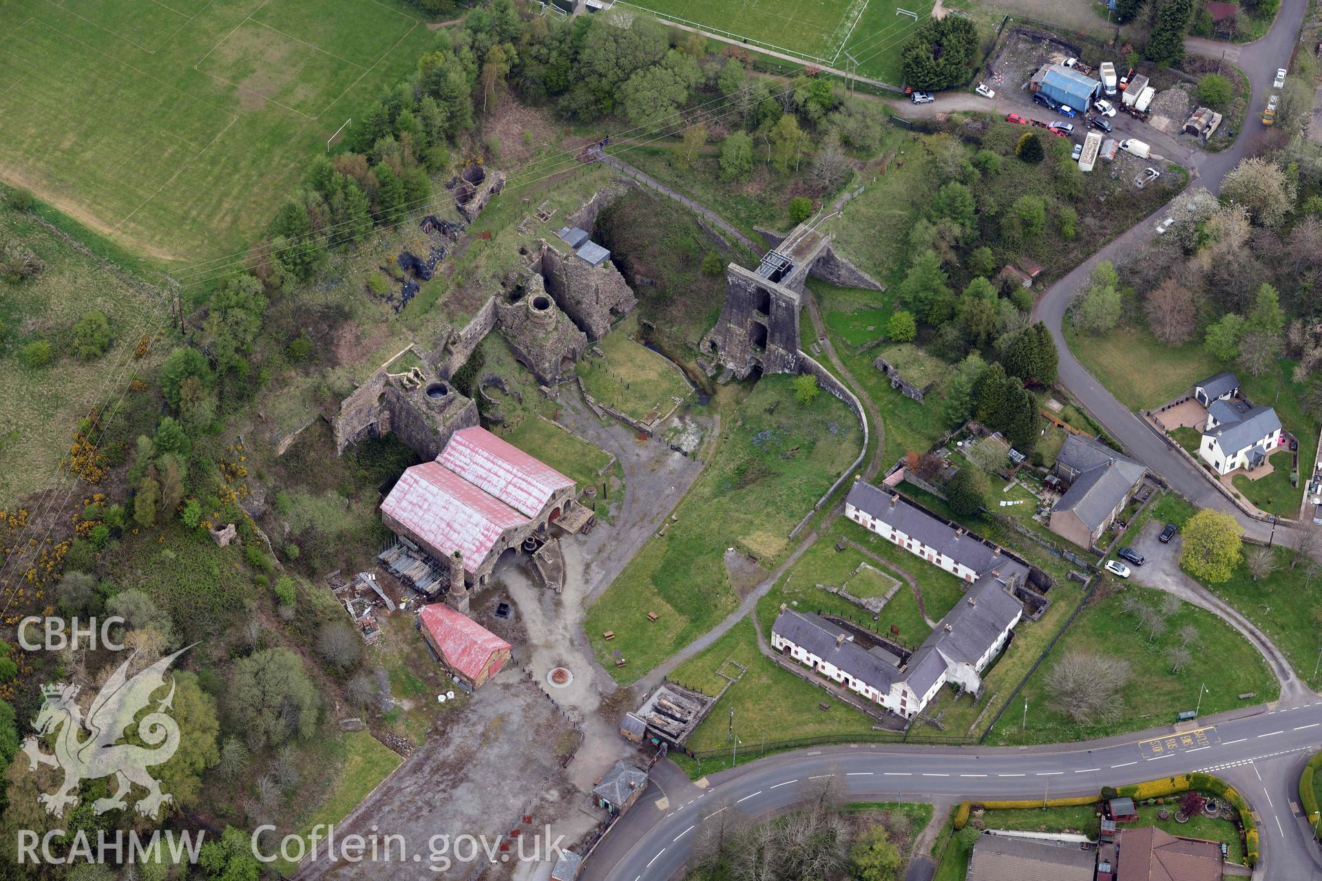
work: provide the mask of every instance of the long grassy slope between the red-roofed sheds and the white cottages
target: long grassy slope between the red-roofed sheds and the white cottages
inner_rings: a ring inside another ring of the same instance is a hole
[[[789,531],[858,456],[862,431],[843,403],[795,400],[793,379],[765,376],[720,391],[722,435],[698,482],[588,610],[598,659],[621,683],[710,630],[739,598],[724,571],[726,548],[765,568],[789,549]],[[743,400],[738,400],[746,395]],[[648,621],[654,612],[657,621]],[[615,639],[602,638],[605,630]],[[616,658],[627,667],[617,668]]]

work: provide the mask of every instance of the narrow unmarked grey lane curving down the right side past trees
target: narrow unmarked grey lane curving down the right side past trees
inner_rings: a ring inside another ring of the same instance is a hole
[[[1244,131],[1240,132],[1235,145],[1222,153],[1198,153],[1194,169],[1198,184],[1206,186],[1212,193],[1220,192],[1222,178],[1233,169],[1248,152],[1248,136],[1264,131],[1257,116],[1257,110],[1266,103],[1266,94],[1272,88],[1272,79],[1277,67],[1288,66],[1290,53],[1298,40],[1300,28],[1303,24],[1306,0],[1285,0],[1276,24],[1265,37],[1257,42],[1241,46],[1237,65],[1248,74],[1253,88],[1253,98],[1249,103],[1249,115]],[[1195,49],[1199,45],[1194,45]],[[1161,211],[1154,213],[1130,227],[1097,254],[1076,267],[1067,276],[1038,297],[1032,309],[1035,318],[1047,324],[1051,337],[1056,342],[1060,353],[1059,380],[1068,388],[1112,437],[1118,440],[1129,453],[1146,465],[1153,472],[1161,474],[1178,491],[1187,495],[1202,507],[1229,511],[1244,527],[1251,538],[1259,540],[1273,540],[1284,544],[1294,544],[1293,530],[1285,526],[1263,523],[1247,516],[1229,499],[1214,489],[1210,481],[1183,456],[1170,449],[1165,441],[1141,419],[1134,416],[1129,408],[1121,404],[1097,379],[1084,369],[1079,359],[1069,351],[1062,330],[1062,321],[1066,309],[1073,296],[1083,289],[1092,273],[1093,267],[1100,260],[1114,262],[1121,254],[1134,248],[1138,243],[1155,235],[1154,227]]]

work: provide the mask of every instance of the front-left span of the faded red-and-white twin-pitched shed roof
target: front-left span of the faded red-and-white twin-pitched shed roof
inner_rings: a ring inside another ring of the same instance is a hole
[[[529,522],[440,462],[407,469],[382,502],[381,512],[447,555],[460,551],[469,572],[476,571],[505,530]]]

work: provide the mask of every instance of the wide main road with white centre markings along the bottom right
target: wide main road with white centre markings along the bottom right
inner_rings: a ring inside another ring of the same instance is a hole
[[[945,749],[869,744],[798,750],[759,759],[713,777],[713,786],[654,818],[613,866],[588,863],[586,878],[648,881],[677,876],[709,818],[727,810],[767,818],[804,798],[804,787],[842,775],[851,800],[929,800],[932,798],[1036,799],[1092,795],[1190,771],[1229,779],[1259,815],[1263,861],[1255,877],[1272,881],[1322,880],[1318,851],[1307,843],[1306,822],[1293,812],[1302,763],[1322,748],[1322,701],[1260,712],[1200,729],[1206,740],[1154,756],[1149,737],[1177,736],[1163,728],[1105,741],[1058,746]],[[1202,745],[1206,744],[1206,745]],[[635,812],[657,812],[649,790]],[[632,819],[632,818],[631,818]],[[940,822],[936,819],[935,822]]]

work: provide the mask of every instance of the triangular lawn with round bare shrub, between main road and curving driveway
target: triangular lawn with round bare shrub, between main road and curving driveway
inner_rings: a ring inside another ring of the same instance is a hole
[[[1023,688],[1029,700],[1027,732],[1021,732],[1019,719],[1002,717],[992,732],[995,742],[1056,744],[1171,724],[1177,713],[1198,704],[1200,683],[1207,684],[1200,707],[1204,716],[1240,707],[1240,693],[1253,692],[1259,703],[1274,700],[1280,693],[1280,684],[1257,650],[1210,612],[1181,604],[1179,612],[1167,619],[1166,633],[1149,641],[1146,631],[1134,629],[1137,617],[1122,612],[1121,598],[1125,592],[1137,592],[1149,606],[1155,606],[1166,594],[1137,584],[1121,585],[1109,576],[1097,590]],[[1185,625],[1198,629],[1198,639],[1188,646],[1192,660],[1173,672],[1166,652],[1179,645],[1178,633]],[[1124,711],[1118,720],[1080,724],[1055,711],[1046,679],[1054,664],[1071,651],[1129,662],[1132,675],[1122,691]]]

